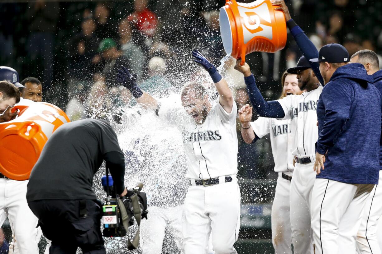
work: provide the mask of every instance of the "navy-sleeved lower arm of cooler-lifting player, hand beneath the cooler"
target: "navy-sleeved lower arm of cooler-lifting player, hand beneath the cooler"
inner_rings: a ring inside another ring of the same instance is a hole
[[[271,118],[285,117],[284,110],[278,101],[265,101],[256,86],[255,77],[251,73],[251,69],[247,63],[241,65],[241,59],[236,61],[235,69],[244,74],[244,81],[247,85],[247,92],[252,106],[256,109],[259,116]]]

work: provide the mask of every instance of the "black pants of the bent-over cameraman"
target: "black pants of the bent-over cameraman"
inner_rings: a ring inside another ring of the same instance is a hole
[[[50,254],[106,254],[100,230],[100,206],[94,200],[38,200],[28,202],[39,218],[44,236],[52,241]]]

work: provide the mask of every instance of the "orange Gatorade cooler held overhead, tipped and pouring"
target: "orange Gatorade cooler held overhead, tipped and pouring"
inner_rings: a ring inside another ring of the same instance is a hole
[[[223,47],[227,54],[245,62],[245,55],[262,51],[275,53],[286,43],[284,13],[275,11],[270,0],[237,3],[227,0],[220,8],[219,22]]]

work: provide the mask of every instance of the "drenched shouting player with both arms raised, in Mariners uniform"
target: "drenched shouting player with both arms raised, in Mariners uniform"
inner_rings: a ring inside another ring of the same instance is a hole
[[[176,123],[182,131],[191,185],[183,207],[185,254],[206,253],[211,233],[216,254],[237,253],[233,247],[240,228],[236,103],[215,66],[198,51],[192,54],[209,72],[219,93],[217,103],[210,103],[201,84],[191,82],[181,90],[181,105],[167,101],[158,109],[157,101],[136,85],[128,70],[118,70],[118,76],[138,103],[157,109],[159,117]]]

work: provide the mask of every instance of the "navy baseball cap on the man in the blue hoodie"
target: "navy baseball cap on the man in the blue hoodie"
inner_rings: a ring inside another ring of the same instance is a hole
[[[350,61],[349,52],[338,43],[330,43],[320,48],[318,58],[309,59],[311,62],[347,63]]]

